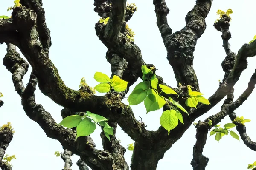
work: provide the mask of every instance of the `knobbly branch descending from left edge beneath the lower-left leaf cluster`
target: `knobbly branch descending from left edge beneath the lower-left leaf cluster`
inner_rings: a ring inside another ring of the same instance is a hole
[[[5,66],[9,71],[15,74],[19,72],[17,70],[22,70],[21,67],[23,67],[23,65],[20,63],[19,57],[17,57],[13,51],[14,50],[9,50],[7,52],[8,54],[6,56],[12,57],[12,59],[9,59],[9,62],[6,60]],[[14,84],[18,82],[15,84],[15,89],[19,93],[22,93],[20,96],[22,96],[23,109],[30,119],[40,125],[48,137],[58,140],[64,149],[68,149],[76,155],[79,155],[93,170],[117,170],[115,169],[117,167],[114,165],[113,157],[108,151],[96,150],[94,148],[95,144],[90,137],[79,137],[75,142],[76,134],[73,130],[65,129],[63,126],[57,125],[50,113],[45,111],[41,105],[35,103],[34,91],[37,80],[33,73],[30,76],[26,89],[23,86],[22,77],[23,76],[16,76],[13,82]],[[108,166],[106,166],[106,164],[108,164]]]

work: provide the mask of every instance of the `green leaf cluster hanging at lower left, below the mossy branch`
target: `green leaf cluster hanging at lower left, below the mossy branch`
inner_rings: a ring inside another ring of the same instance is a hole
[[[106,121],[108,121],[108,119],[106,119],[105,117],[87,111],[84,116],[67,116],[59,123],[59,125],[67,128],[76,127],[77,139],[79,136],[89,136],[91,133],[94,132],[94,130],[96,129],[96,124],[98,124],[99,126],[104,127],[104,134],[108,138],[108,140],[110,140],[109,135],[114,135],[113,127],[110,127]]]

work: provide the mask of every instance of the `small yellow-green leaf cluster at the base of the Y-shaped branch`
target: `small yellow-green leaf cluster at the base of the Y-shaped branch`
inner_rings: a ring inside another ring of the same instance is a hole
[[[196,106],[198,105],[198,102],[201,102],[205,105],[210,105],[210,102],[208,99],[204,98],[202,95],[202,93],[198,92],[198,91],[192,91],[191,90],[191,86],[188,85],[187,86],[188,91],[189,91],[189,98],[186,99],[185,104],[191,108],[196,108]]]

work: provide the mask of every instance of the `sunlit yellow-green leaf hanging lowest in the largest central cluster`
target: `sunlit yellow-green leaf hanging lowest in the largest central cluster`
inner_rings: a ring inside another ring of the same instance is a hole
[[[164,111],[160,117],[160,124],[168,131],[168,135],[170,130],[174,129],[178,125],[178,122],[179,119],[176,116],[176,111],[173,109]]]

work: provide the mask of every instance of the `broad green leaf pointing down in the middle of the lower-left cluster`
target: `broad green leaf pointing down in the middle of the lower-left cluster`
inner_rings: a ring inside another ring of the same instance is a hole
[[[85,118],[76,127],[76,139],[79,136],[88,136],[94,132],[96,125],[92,122],[92,119]]]

